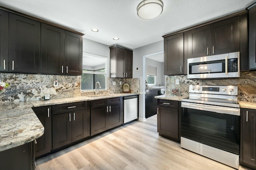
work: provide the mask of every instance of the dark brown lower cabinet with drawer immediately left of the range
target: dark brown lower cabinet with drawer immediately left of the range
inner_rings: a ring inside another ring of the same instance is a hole
[[[180,142],[179,102],[158,99],[157,131],[160,136]]]

